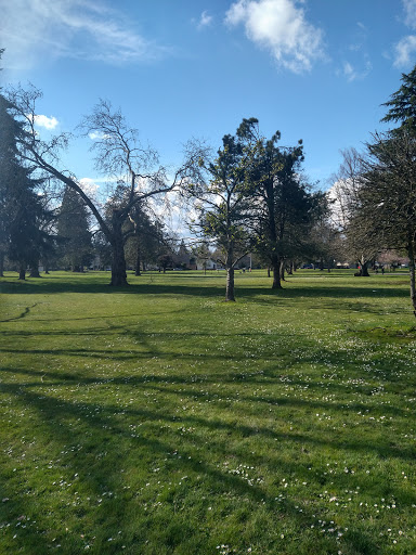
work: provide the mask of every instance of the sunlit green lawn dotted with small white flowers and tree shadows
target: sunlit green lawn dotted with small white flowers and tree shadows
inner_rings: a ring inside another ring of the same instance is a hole
[[[0,553],[416,553],[407,275],[0,280]]]

